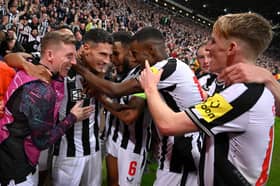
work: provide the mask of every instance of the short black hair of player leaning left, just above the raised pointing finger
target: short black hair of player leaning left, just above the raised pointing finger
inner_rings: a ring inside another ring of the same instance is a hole
[[[145,42],[148,40],[154,40],[164,43],[163,34],[154,27],[144,27],[132,37],[132,41]]]

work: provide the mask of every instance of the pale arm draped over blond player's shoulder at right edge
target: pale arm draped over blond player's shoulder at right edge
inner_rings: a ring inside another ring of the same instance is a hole
[[[264,83],[274,96],[276,115],[280,116],[280,83],[268,70],[253,64],[238,63],[227,67],[219,74],[218,78],[224,80],[226,84]]]

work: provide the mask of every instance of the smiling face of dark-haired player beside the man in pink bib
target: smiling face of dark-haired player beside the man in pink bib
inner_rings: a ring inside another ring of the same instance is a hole
[[[111,62],[112,45],[109,43],[86,43],[83,45],[84,62],[90,70],[105,72]]]

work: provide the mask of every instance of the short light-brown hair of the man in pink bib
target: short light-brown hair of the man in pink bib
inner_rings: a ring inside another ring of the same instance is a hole
[[[43,56],[45,50],[51,45],[56,46],[61,43],[75,45],[76,39],[73,35],[64,34],[60,31],[47,32],[41,41],[41,56]]]

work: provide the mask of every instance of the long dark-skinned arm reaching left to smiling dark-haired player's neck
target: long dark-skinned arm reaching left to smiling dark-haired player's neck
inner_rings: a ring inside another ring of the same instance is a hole
[[[143,92],[141,85],[134,78],[121,83],[115,83],[97,77],[82,65],[73,65],[73,68],[87,80],[91,88],[97,89],[109,97],[121,97],[136,92]]]

